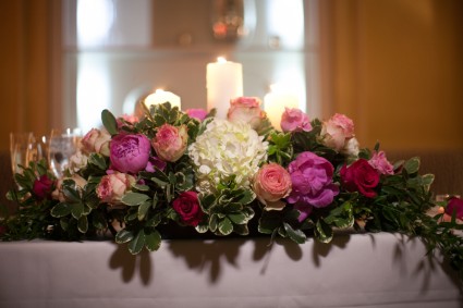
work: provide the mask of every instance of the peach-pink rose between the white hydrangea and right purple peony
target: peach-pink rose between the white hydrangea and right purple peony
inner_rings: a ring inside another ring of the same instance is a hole
[[[291,193],[291,175],[278,163],[263,165],[254,176],[253,190],[266,210],[282,210]]]

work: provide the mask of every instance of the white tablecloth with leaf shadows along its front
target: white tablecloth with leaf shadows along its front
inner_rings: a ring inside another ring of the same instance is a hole
[[[139,256],[111,242],[0,243],[0,307],[463,307],[418,239],[268,242],[173,239]]]

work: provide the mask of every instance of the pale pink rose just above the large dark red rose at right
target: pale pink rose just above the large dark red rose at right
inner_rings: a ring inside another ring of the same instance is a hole
[[[341,151],[346,141],[354,137],[354,122],[344,114],[336,113],[324,122],[321,136],[327,147]]]

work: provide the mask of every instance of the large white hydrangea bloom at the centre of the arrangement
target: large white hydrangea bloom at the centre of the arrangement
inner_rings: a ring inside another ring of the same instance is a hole
[[[237,187],[248,188],[259,163],[267,159],[268,143],[244,122],[215,119],[188,148],[196,168],[196,188],[215,193],[221,182],[235,175]]]

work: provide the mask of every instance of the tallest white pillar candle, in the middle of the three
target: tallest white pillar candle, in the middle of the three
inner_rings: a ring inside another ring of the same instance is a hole
[[[219,57],[207,64],[207,110],[216,108],[216,116],[226,119],[230,99],[243,96],[243,65]]]

